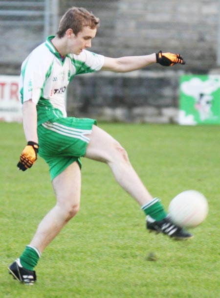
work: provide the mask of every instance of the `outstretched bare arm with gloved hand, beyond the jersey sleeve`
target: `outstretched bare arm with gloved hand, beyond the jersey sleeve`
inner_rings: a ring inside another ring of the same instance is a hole
[[[127,56],[120,58],[105,57],[104,65],[101,70],[114,72],[129,72],[142,69],[153,63],[159,63],[162,66],[173,66],[176,63],[185,64],[180,54],[159,51],[144,56]]]

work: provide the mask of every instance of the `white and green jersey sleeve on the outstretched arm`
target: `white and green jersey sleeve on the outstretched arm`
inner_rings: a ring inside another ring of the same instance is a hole
[[[72,56],[72,62],[76,68],[76,74],[83,74],[100,70],[104,65],[104,56],[88,50],[76,56]]]

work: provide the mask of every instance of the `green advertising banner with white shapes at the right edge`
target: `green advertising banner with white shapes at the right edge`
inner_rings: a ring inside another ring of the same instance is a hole
[[[220,124],[220,75],[182,75],[178,123]]]

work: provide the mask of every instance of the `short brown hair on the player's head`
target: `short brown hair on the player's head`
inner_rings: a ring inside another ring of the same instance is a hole
[[[91,12],[82,7],[71,7],[63,15],[57,36],[64,37],[66,30],[71,28],[73,33],[77,35],[84,26],[94,29],[99,26],[99,18],[96,18]]]

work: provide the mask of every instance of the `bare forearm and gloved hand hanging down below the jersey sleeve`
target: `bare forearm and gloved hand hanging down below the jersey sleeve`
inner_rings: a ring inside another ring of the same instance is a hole
[[[24,147],[18,168],[25,171],[30,168],[38,154],[38,135],[37,135],[37,109],[36,104],[30,99],[23,103],[23,129],[27,140],[27,145]]]

